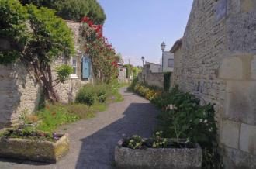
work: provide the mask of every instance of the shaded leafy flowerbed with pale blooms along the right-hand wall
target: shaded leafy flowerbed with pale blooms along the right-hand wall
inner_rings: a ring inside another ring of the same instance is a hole
[[[203,168],[223,168],[218,153],[217,128],[214,119],[213,105],[201,105],[194,95],[178,90],[157,91],[136,80],[130,85],[130,90],[141,96],[147,93],[159,93],[149,99],[161,113],[158,116],[160,128],[164,137],[185,138],[192,143],[199,143],[203,151]],[[147,98],[147,97],[146,97]]]

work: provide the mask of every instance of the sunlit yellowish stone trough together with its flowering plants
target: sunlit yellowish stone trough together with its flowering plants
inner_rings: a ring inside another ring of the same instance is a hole
[[[56,163],[69,150],[67,134],[1,129],[0,157]]]

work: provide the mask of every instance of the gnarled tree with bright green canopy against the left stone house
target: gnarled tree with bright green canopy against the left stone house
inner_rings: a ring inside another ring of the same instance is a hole
[[[71,68],[58,67],[57,79],[53,79],[50,64],[74,53],[72,36],[54,10],[23,6],[18,0],[0,0],[0,64],[20,60],[34,72],[44,94],[53,102],[59,100],[54,85],[63,82]]]

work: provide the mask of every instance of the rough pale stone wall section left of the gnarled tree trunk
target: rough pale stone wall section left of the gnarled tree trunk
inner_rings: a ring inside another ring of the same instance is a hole
[[[40,94],[40,85],[24,65],[0,65],[0,128],[19,121],[23,112],[36,110]]]

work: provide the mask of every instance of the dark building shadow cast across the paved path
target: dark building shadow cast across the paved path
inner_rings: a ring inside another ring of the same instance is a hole
[[[151,136],[155,115],[150,103],[131,103],[123,112],[123,118],[81,139],[81,150],[76,169],[113,168],[114,149],[123,134]]]

